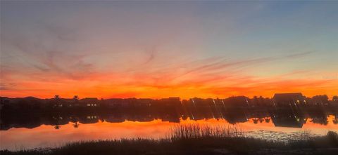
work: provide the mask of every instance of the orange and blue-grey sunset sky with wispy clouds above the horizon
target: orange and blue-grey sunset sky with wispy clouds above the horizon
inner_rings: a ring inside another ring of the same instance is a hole
[[[338,95],[338,1],[1,1],[0,95]]]

